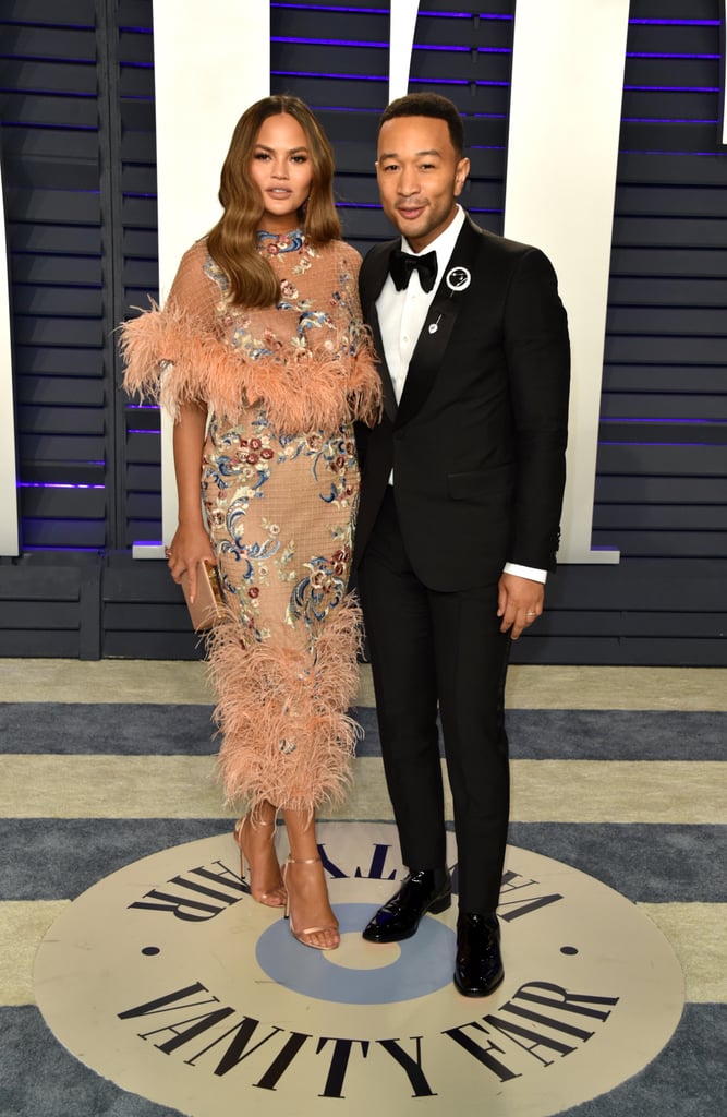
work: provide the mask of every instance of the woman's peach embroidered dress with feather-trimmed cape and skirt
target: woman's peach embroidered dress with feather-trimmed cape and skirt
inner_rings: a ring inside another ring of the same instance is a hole
[[[198,241],[163,311],[122,331],[124,386],[210,412],[201,493],[228,605],[208,658],[227,799],[308,812],[341,798],[356,737],[360,614],[346,594],[358,499],[352,421],[381,388],[361,322],[361,258],[299,231],[259,235],[281,287],[245,309]]]

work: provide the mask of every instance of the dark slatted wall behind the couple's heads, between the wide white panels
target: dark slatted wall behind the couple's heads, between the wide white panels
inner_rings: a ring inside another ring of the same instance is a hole
[[[447,7],[420,3],[410,88],[442,93],[466,116],[472,170],[462,200],[480,225],[500,232],[514,2],[466,0],[442,12]],[[389,16],[364,2],[332,6],[325,20],[303,4],[272,3],[271,16],[271,89],[315,107],[336,150],[345,235],[365,252],[391,236],[373,173],[389,93]]]

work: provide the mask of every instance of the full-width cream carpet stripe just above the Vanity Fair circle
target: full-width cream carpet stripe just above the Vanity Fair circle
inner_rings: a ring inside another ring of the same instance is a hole
[[[514,822],[724,823],[727,762],[515,761]],[[212,756],[0,756],[0,818],[220,818]],[[391,819],[379,757],[322,817]],[[451,801],[447,798],[447,817]]]

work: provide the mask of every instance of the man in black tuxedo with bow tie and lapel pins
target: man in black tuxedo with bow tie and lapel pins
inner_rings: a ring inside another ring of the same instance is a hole
[[[546,257],[457,204],[462,151],[444,97],[401,97],[382,115],[376,174],[401,240],[375,246],[361,269],[385,414],[358,432],[356,561],[409,875],[363,934],[399,942],[450,906],[439,707],[458,849],[455,984],[486,996],[504,976],[508,648],[541,614],[555,565],[570,360]]]

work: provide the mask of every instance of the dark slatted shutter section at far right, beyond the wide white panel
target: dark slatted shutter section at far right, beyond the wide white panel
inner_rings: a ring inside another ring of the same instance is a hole
[[[633,7],[659,8],[666,21],[632,22],[629,34],[594,543],[613,542],[633,558],[724,560],[720,6]]]

